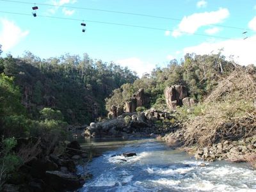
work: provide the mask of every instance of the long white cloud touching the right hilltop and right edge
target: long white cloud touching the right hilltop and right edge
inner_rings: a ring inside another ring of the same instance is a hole
[[[184,48],[184,54],[195,52],[196,54],[218,53],[223,49],[222,54],[229,58],[234,56],[236,62],[241,65],[256,64],[256,35],[246,40],[225,40],[221,42],[204,42],[200,45]]]

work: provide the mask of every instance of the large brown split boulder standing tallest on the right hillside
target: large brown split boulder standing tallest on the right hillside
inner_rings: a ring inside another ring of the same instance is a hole
[[[165,88],[164,96],[167,106],[175,110],[177,106],[182,106],[182,99],[188,97],[188,90],[185,86],[173,85]]]

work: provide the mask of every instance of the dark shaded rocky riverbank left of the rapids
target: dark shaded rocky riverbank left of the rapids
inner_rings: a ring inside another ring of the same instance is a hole
[[[23,151],[22,156],[28,155],[24,148],[28,143],[36,150],[32,158],[27,156],[27,161],[17,172],[10,174],[3,192],[75,191],[83,186],[86,175],[77,174],[76,166],[91,157],[81,150],[77,141],[59,143],[52,148],[45,148],[39,138],[20,138],[17,141],[19,148],[16,150]]]

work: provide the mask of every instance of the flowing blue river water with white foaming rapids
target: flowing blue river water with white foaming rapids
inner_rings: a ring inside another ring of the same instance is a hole
[[[93,145],[103,146],[105,152],[88,164],[93,177],[80,192],[256,191],[256,171],[246,163],[216,161],[200,166],[203,161],[153,139]],[[137,156],[115,156],[124,152],[136,152]]]

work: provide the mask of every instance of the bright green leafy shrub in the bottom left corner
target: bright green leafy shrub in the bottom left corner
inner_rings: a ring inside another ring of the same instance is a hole
[[[17,145],[15,138],[6,138],[1,141],[0,153],[0,190],[4,182],[8,179],[8,174],[14,172],[21,164],[18,156],[12,152],[12,148]]]

